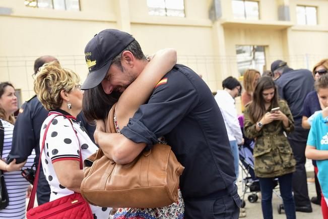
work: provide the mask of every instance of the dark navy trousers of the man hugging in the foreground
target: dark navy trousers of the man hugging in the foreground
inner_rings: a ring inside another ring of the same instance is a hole
[[[233,189],[225,195],[199,200],[184,199],[184,218],[237,219],[241,199],[237,193],[237,186],[232,186]]]

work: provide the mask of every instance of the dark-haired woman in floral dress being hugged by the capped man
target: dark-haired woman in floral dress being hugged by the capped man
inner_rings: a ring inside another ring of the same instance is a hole
[[[138,78],[121,95],[118,92],[112,92],[110,95],[106,94],[101,84],[86,90],[83,98],[84,115],[90,121],[97,120],[98,129],[104,126],[104,121],[107,120],[110,108],[117,102],[114,108],[114,124],[117,133],[120,133],[120,129],[127,125],[129,118],[133,117],[139,106],[147,102],[162,77],[174,67],[176,58],[176,51],[174,49],[162,49],[156,52]],[[97,99],[97,102],[92,101],[94,99]],[[161,140],[160,142],[164,143]],[[98,143],[102,146],[106,143],[110,144],[110,139],[98,139]],[[113,156],[113,154],[108,154],[106,150],[103,150],[103,152],[108,157]],[[184,202],[180,190],[178,190],[178,197],[178,202],[166,207],[119,208],[114,218],[183,218]]]

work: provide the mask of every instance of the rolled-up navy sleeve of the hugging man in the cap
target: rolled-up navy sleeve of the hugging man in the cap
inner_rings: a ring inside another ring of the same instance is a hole
[[[174,68],[166,76],[167,83],[154,89],[147,104],[141,105],[122,130],[126,138],[151,146],[171,132],[199,101],[192,81]]]

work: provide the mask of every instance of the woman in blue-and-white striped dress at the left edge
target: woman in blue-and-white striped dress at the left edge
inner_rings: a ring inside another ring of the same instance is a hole
[[[7,164],[4,161],[12,148],[15,124],[13,113],[17,109],[15,88],[9,82],[0,83],[0,121],[4,127],[4,142],[1,142],[3,149],[0,159],[0,169],[4,171],[9,196],[9,205],[0,210],[0,218],[25,218],[26,191],[30,187],[30,183],[22,177],[20,170],[24,165],[25,167],[31,168],[35,157],[35,152],[33,151],[27,158],[27,162],[16,164],[16,159],[14,159]]]

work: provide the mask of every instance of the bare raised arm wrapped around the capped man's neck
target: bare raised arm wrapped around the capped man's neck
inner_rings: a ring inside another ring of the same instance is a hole
[[[149,99],[156,84],[173,68],[176,61],[176,51],[171,48],[159,50],[154,54],[138,78],[119,97],[115,107],[119,127],[126,126],[129,118]]]

